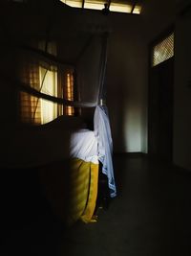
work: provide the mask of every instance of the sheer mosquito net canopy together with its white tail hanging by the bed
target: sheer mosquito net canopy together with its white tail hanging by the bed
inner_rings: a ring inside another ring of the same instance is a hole
[[[115,197],[111,129],[106,106],[100,105],[105,100],[104,79],[109,35],[107,22],[103,15],[101,20],[94,16],[87,18],[88,14],[84,16],[82,12],[67,8],[59,1],[52,2],[53,5],[48,8],[41,6],[36,10],[29,1],[23,10],[18,11],[18,15],[22,16],[20,19],[25,21],[22,27],[11,20],[11,29],[15,34],[12,56],[19,63],[14,83],[20,86],[21,91],[37,99],[36,102],[33,100],[34,106],[33,103],[31,105],[33,116],[38,111],[38,99],[60,105],[60,109],[66,106],[95,107],[94,127],[98,154],[103,164],[103,173],[108,176],[110,195]],[[51,76],[53,74],[56,76]],[[73,99],[65,97],[63,86],[60,85],[68,84],[64,74],[73,75]],[[56,91],[45,86],[48,79],[56,80]]]

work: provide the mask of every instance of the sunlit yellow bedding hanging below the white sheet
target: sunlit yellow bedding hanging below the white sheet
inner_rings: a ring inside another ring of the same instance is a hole
[[[71,184],[68,224],[93,220],[96,207],[98,164],[74,158],[71,162]]]

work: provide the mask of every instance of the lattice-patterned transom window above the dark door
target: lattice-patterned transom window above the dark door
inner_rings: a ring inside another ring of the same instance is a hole
[[[172,58],[174,56],[174,33],[160,41],[153,48],[152,66]]]

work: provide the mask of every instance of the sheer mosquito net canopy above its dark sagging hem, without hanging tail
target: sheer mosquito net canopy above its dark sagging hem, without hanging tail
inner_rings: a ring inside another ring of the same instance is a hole
[[[10,56],[18,63],[15,78],[22,90],[58,105],[98,105],[109,35],[105,17],[100,13],[97,19],[94,13],[89,16],[60,1],[11,4],[14,12],[4,20],[8,32],[4,39],[12,44]],[[53,72],[56,91],[46,86]],[[66,92],[69,85],[73,95]]]

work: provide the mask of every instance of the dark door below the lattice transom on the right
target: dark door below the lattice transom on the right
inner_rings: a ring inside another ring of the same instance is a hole
[[[172,161],[174,58],[152,67],[149,81],[148,152]]]

